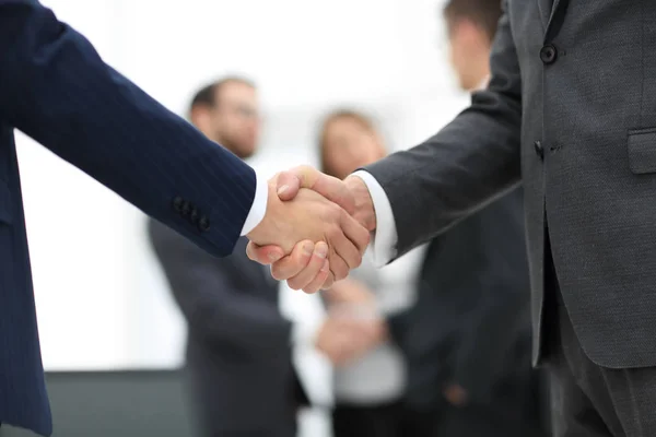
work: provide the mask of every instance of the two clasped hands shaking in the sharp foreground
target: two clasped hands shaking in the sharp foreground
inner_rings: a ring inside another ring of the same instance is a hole
[[[248,257],[271,264],[271,274],[290,287],[315,293],[329,288],[359,267],[376,228],[364,181],[343,181],[308,166],[269,180],[267,212],[247,234]]]

